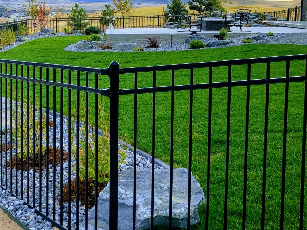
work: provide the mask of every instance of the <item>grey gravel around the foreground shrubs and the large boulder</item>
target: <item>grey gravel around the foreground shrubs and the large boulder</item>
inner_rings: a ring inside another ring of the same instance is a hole
[[[49,115],[49,120],[53,121],[53,115]],[[60,148],[61,144],[63,144],[63,150],[64,151],[68,151],[68,133],[66,130],[68,130],[68,121],[67,119],[63,119],[64,123],[63,123],[63,143],[61,143],[60,140],[60,117],[56,117],[56,140],[55,140],[55,144],[56,144],[56,148]],[[80,124],[81,126],[81,124]],[[74,127],[75,131],[76,131],[76,123],[75,123],[75,127]],[[80,127],[81,129],[81,127]],[[3,143],[5,143],[5,138],[6,135],[3,135]],[[80,137],[81,138],[81,137]],[[8,139],[8,144],[10,144],[10,134],[8,133],[7,135],[7,139]],[[76,139],[76,138],[75,138]],[[89,137],[90,139],[90,137]],[[49,127],[49,146],[52,147],[53,146],[53,127]],[[76,143],[76,140],[74,141],[73,144]],[[14,145],[14,143],[12,143]],[[43,142],[44,144],[44,142]],[[126,152],[126,157],[124,159],[124,162],[120,164],[120,168],[119,168],[119,175],[124,173],[125,170],[133,167],[134,165],[134,154],[133,152],[129,149],[129,148],[122,148],[122,144],[119,143],[119,150],[122,150],[124,152]],[[20,151],[20,149],[18,148],[18,151]],[[12,154],[14,157],[15,154],[15,150],[12,150]],[[2,156],[2,160],[3,160],[3,164],[2,167],[5,169],[6,167],[6,160],[10,159],[10,151],[8,151],[8,158],[5,158],[5,154],[3,153]],[[121,159],[121,155],[119,155],[119,159]],[[73,171],[73,168],[76,167],[75,166],[75,159],[72,155],[72,162],[71,162],[71,180],[76,178],[76,175]],[[136,162],[137,167],[142,167],[142,168],[151,168],[152,164],[151,164],[151,160],[147,159],[143,156],[137,155],[137,162]],[[63,163],[63,167],[62,167],[62,176],[63,176],[63,184],[68,184],[68,170],[69,170],[69,162],[65,161]],[[155,164],[155,168],[157,169],[161,169],[160,166],[158,166],[157,164]],[[52,218],[52,214],[53,214],[53,201],[56,201],[56,205],[55,205],[55,220],[60,221],[60,176],[61,176],[61,167],[60,164],[56,165],[55,167],[56,170],[56,174],[55,174],[55,194],[56,197],[55,199],[53,198],[53,178],[54,178],[54,174],[53,174],[53,167],[51,164],[49,164],[48,166],[48,181],[49,181],[49,185],[48,185],[48,191],[46,188],[46,169],[43,169],[41,171],[41,187],[40,187],[40,173],[39,172],[35,172],[33,171],[33,169],[29,170],[29,200],[30,200],[30,204],[33,204],[33,173],[35,173],[35,206],[38,207],[41,201],[42,204],[42,211],[45,213],[46,210],[46,204],[48,202],[49,206],[48,206],[48,210],[49,210],[49,217]],[[7,170],[7,180],[8,180],[8,191],[10,191],[10,169]],[[13,193],[15,193],[15,179],[16,179],[16,169],[13,168],[12,171],[12,176],[13,176],[13,180],[12,180],[12,190]],[[21,181],[21,170],[18,170],[17,172],[17,180],[18,180],[18,196],[21,196],[21,183],[23,183],[23,192],[24,192],[24,200],[19,200],[16,197],[13,197],[10,195],[10,193],[7,190],[3,190],[1,195],[0,195],[0,205],[3,206],[5,209],[7,209],[14,217],[16,217],[18,220],[20,220],[23,224],[27,225],[29,229],[31,230],[36,230],[36,229],[43,229],[43,230],[47,230],[47,229],[52,229],[51,223],[48,221],[45,221],[42,219],[42,217],[37,216],[37,214],[34,213],[34,209],[29,209],[27,207],[27,205],[25,205],[24,201],[27,200],[27,182],[28,182],[28,175],[27,175],[27,171],[23,171],[23,181]],[[3,172],[3,185],[5,185],[5,171]],[[42,191],[42,198],[41,200],[39,199],[39,191]],[[48,201],[46,200],[46,194],[48,193]],[[72,229],[76,228],[76,218],[77,218],[77,205],[76,205],[76,201],[71,202],[71,212],[68,213],[68,203],[64,203],[63,204],[63,225],[64,226],[68,226],[68,215],[70,215],[71,217],[71,227]],[[90,211],[90,209],[89,209]],[[80,206],[79,206],[79,224],[81,224],[84,221],[84,217],[85,217],[85,207],[81,205],[80,202]]]

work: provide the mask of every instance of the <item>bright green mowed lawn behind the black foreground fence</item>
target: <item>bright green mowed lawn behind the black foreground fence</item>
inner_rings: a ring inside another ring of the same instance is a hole
[[[44,38],[33,40],[0,53],[0,59],[23,60],[43,63],[56,63],[85,67],[107,68],[111,61],[118,61],[120,67],[138,67],[161,64],[180,64],[279,56],[307,53],[306,46],[248,44],[239,47],[189,50],[181,52],[67,52],[64,48],[84,36]],[[286,64],[272,63],[271,77],[284,77]],[[14,70],[14,68],[13,68]],[[227,81],[227,67],[213,68],[213,82]],[[38,72],[38,71],[37,71]],[[31,71],[30,71],[31,73]],[[58,72],[57,72],[58,73]],[[49,73],[50,76],[51,72]],[[305,75],[305,62],[290,62],[290,76]],[[31,75],[30,75],[31,76]],[[73,73],[73,82],[76,82]],[[251,78],[266,77],[266,65],[251,66]],[[43,78],[45,72],[43,71]],[[234,66],[232,80],[247,78],[247,67]],[[90,86],[94,85],[94,76],[90,75]],[[60,80],[59,74],[57,80]],[[152,86],[152,73],[138,74],[138,87]],[[190,71],[175,71],[175,84],[189,84]],[[68,74],[64,71],[64,82]],[[84,84],[84,75],[81,75]],[[194,70],[194,83],[208,82],[208,69]],[[157,72],[157,86],[171,83],[171,71]],[[19,84],[20,85],[20,84]],[[99,76],[99,87],[110,85],[107,76]],[[134,75],[120,75],[120,88],[133,88]],[[51,87],[50,87],[51,88]],[[260,229],[262,205],[262,171],[264,108],[266,86],[251,86],[250,120],[248,138],[247,171],[247,229]],[[291,83],[289,90],[287,155],[286,155],[286,200],[285,229],[298,229],[301,180],[301,148],[303,123],[304,83]],[[43,87],[43,95],[45,95]],[[37,91],[38,92],[38,86]],[[59,112],[60,101],[57,91],[56,108]],[[242,228],[243,204],[243,167],[245,145],[247,87],[231,89],[230,155],[229,155],[229,194],[228,194],[228,229]],[[30,90],[32,96],[33,91]],[[52,94],[52,89],[50,89]],[[174,109],[174,167],[188,167],[189,140],[189,91],[175,92]],[[68,103],[76,105],[75,93],[68,101],[64,90],[64,113],[68,114]],[[170,159],[170,111],[171,94],[157,93],[156,96],[156,157],[169,163]],[[152,152],[152,94],[138,95],[138,148]],[[94,96],[89,97],[89,107],[94,110]],[[270,86],[268,157],[266,177],[266,229],[279,229],[282,177],[282,140],[284,119],[285,85]],[[43,98],[45,103],[45,98]],[[208,146],[208,90],[195,90],[193,93],[193,130],[192,130],[192,173],[206,194],[207,183],[207,146]],[[109,103],[106,99],[106,104]],[[52,109],[52,97],[49,98]],[[120,96],[119,101],[119,135],[123,140],[133,144],[134,96]],[[226,158],[226,122],[227,89],[212,90],[212,139],[210,168],[210,215],[209,229],[223,228],[223,207],[225,189]],[[305,176],[306,179],[306,176]],[[305,185],[305,193],[307,186]],[[307,199],[305,198],[306,203]],[[200,207],[201,223],[195,229],[205,228],[205,204]],[[305,206],[304,217],[307,217]],[[307,222],[304,222],[307,229]]]

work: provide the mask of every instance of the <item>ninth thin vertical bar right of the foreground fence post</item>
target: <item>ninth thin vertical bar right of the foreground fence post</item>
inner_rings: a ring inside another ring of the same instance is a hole
[[[286,78],[289,78],[290,61],[286,61]],[[288,98],[289,82],[285,86],[285,110],[284,110],[284,132],[282,143],[282,188],[281,188],[281,205],[280,205],[280,230],[284,229],[285,215],[285,182],[286,182],[286,147],[287,147],[287,121],[288,121]]]

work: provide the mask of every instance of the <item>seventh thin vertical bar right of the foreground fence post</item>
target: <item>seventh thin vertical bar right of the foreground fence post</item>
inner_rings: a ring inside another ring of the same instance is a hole
[[[247,80],[251,80],[251,64],[247,65]],[[249,108],[250,108],[250,90],[247,86],[246,91],[246,116],[245,116],[245,150],[244,150],[244,177],[243,177],[243,211],[242,211],[242,229],[246,225],[246,190],[247,190],[247,154],[248,154],[248,128],[249,128]]]

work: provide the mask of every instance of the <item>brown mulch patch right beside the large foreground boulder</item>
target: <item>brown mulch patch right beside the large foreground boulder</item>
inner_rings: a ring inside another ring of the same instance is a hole
[[[88,207],[92,208],[95,205],[95,187],[90,186],[90,184],[93,183],[94,181],[88,182],[88,191],[87,191],[87,196],[88,196]],[[99,183],[98,185],[98,192],[97,192],[97,197],[99,193],[107,186],[107,182],[104,183]],[[68,202],[68,189],[71,189],[71,201],[73,202],[77,198],[77,179],[72,180],[71,186],[69,187],[69,184],[66,184],[63,186],[63,201]],[[80,181],[79,182],[79,201],[81,201],[82,205],[85,205],[85,181]]]

